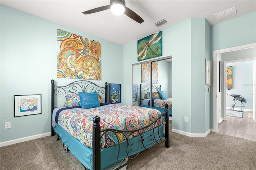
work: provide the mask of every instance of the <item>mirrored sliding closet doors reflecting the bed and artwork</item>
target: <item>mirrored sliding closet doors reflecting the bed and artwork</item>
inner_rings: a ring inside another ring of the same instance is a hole
[[[132,89],[134,106],[154,106],[158,91],[172,98],[172,56],[133,64]]]

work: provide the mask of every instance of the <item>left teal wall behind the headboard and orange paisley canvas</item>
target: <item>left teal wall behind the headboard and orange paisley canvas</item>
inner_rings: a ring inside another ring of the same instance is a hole
[[[56,78],[57,29],[101,42],[102,80],[92,81],[123,85],[122,45],[7,6],[0,8],[0,142],[50,132],[50,80],[57,85],[74,81]],[[14,118],[14,95],[35,94],[42,94],[42,114]],[[5,129],[5,122],[11,122],[11,128]]]

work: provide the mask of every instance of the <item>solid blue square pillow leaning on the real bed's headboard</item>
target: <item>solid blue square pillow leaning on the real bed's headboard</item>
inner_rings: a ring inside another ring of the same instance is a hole
[[[100,102],[98,100],[98,93],[78,93],[81,100],[81,106],[83,109],[89,109],[93,107],[100,107]]]

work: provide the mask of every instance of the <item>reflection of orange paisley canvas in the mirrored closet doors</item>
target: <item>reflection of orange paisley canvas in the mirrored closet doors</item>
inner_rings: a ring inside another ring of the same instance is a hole
[[[150,63],[141,65],[142,83],[150,83]],[[158,84],[158,61],[152,62],[152,83]]]

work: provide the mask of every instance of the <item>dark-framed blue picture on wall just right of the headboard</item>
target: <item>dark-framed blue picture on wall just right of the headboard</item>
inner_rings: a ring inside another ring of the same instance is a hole
[[[109,84],[109,102],[121,103],[121,84]]]

